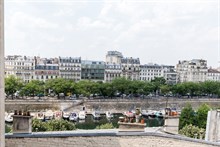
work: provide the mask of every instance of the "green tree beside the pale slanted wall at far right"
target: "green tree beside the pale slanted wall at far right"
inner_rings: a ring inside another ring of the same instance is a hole
[[[206,128],[206,122],[207,122],[207,115],[208,111],[210,111],[210,107],[207,104],[202,104],[197,112],[196,112],[196,119],[195,119],[195,125],[199,128]]]

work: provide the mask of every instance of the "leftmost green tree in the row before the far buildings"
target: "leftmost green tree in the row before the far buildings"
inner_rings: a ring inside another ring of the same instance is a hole
[[[23,83],[21,79],[16,78],[15,76],[9,76],[5,78],[5,93],[14,98],[14,94],[16,91],[21,90],[23,87]]]

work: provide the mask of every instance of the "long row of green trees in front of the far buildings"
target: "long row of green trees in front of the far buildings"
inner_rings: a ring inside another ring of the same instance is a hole
[[[48,93],[64,93],[65,95],[100,95],[103,97],[114,97],[118,95],[148,96],[219,96],[220,82],[205,81],[201,83],[185,82],[175,85],[166,84],[162,77],[155,78],[151,82],[131,81],[125,78],[118,78],[111,83],[94,82],[81,80],[73,82],[67,79],[50,79],[46,82],[32,80],[29,83],[23,83],[21,79],[9,76],[5,79],[5,93],[7,96],[15,95],[19,91],[19,96],[36,96]]]

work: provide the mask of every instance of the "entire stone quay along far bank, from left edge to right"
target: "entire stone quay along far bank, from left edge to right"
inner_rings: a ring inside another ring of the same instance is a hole
[[[81,101],[77,103],[77,101]],[[219,108],[220,99],[213,98],[152,98],[152,99],[79,99],[79,100],[58,100],[56,98],[42,99],[6,99],[5,110],[77,110],[82,106],[88,109],[111,110],[114,113],[128,111],[132,108],[160,110],[166,107],[174,107],[181,110],[187,103],[194,109],[206,103],[211,107]]]

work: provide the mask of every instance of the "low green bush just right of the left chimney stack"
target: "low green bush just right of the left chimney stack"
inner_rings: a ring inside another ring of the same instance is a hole
[[[47,122],[42,122],[38,119],[33,119],[32,121],[32,130],[33,131],[66,131],[66,130],[75,130],[76,127],[73,123],[68,122],[67,120],[49,120]]]

